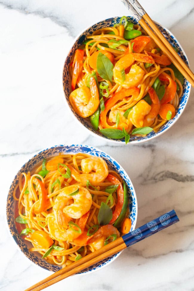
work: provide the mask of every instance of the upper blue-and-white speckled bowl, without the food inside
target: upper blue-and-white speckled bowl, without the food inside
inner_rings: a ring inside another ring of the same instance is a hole
[[[114,24],[119,23],[120,19],[121,19],[121,17],[112,17],[112,18],[109,18],[109,19],[102,20],[102,21],[100,21],[100,22],[88,27],[86,30],[82,31],[77,36],[75,42],[73,43],[73,46],[71,47],[70,52],[67,55],[65,63],[64,63],[63,88],[64,88],[64,94],[65,94],[65,100],[66,100],[67,106],[70,108],[73,116],[79,122],[79,124],[83,125],[87,130],[90,131],[90,133],[92,135],[94,135],[96,137],[103,138],[103,139],[106,138],[108,141],[122,144],[122,143],[125,143],[124,138],[122,140],[115,140],[115,139],[107,138],[107,137],[103,136],[100,132],[95,131],[93,129],[92,125],[90,124],[90,121],[87,120],[86,118],[80,117],[77,113],[75,113],[73,108],[70,105],[70,102],[69,102],[69,95],[71,93],[71,85],[70,85],[71,80],[70,80],[70,76],[69,76],[69,64],[70,64],[70,60],[71,60],[71,58],[73,56],[73,53],[75,52],[75,50],[77,48],[79,48],[79,46],[85,40],[87,35],[92,34],[93,31],[95,31],[95,30],[97,30],[99,28],[107,27],[107,26],[113,26]],[[132,21],[134,24],[138,24],[137,20],[133,16],[127,16],[127,20],[128,21]],[[170,42],[170,44],[172,44],[175,48],[177,48],[179,55],[185,61],[185,63],[188,65],[187,56],[186,56],[184,50],[182,49],[181,45],[179,44],[178,40],[175,38],[175,36],[169,30],[167,30],[165,27],[161,26],[160,24],[156,23],[156,25],[158,26],[160,31],[164,34],[166,39]],[[160,130],[158,130],[157,133],[151,132],[147,136],[131,136],[130,137],[130,142],[128,144],[137,144],[137,143],[140,143],[140,142],[143,142],[143,141],[148,141],[148,140],[150,140],[152,138],[155,138],[156,136],[161,135],[165,131],[167,131],[178,120],[178,118],[183,113],[184,108],[185,108],[185,106],[187,104],[189,95],[190,95],[190,89],[191,89],[190,83],[186,79],[184,79],[183,94],[182,94],[182,97],[181,97],[181,100],[180,100],[180,104],[179,104],[179,106],[178,106],[178,108],[176,110],[175,117],[173,119],[171,119],[170,121],[167,121],[160,128]]]

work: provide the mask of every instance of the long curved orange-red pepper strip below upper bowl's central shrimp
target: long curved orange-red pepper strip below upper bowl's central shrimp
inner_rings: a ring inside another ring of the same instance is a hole
[[[116,124],[114,125],[109,125],[107,123],[107,113],[108,111],[116,104],[118,100],[122,100],[124,97],[128,96],[133,96],[134,99],[136,99],[139,95],[139,89],[137,87],[129,88],[129,89],[122,89],[121,91],[115,93],[111,98],[109,98],[104,106],[105,109],[101,112],[100,114],[100,122],[101,126],[103,128],[115,128],[116,129]],[[118,124],[118,129],[122,130],[127,129],[127,124],[119,122]]]

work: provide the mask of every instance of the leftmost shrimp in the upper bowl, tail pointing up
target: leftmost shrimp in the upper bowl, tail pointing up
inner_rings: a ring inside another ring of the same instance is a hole
[[[90,78],[90,89],[86,86],[77,88],[70,94],[69,101],[73,110],[79,116],[91,116],[100,103],[98,87],[94,77]]]

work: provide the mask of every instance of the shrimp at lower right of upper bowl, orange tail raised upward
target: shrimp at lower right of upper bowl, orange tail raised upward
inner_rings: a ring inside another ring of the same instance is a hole
[[[135,127],[150,126],[160,109],[160,101],[153,88],[148,90],[152,100],[151,106],[145,101],[140,100],[130,111],[128,118]]]

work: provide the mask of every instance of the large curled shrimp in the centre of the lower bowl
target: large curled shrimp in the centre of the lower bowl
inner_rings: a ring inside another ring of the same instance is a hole
[[[73,196],[70,194],[79,190],[79,192]],[[73,203],[67,205],[68,200],[73,199]],[[58,227],[61,229],[67,229],[67,223],[70,218],[80,218],[82,215],[90,210],[92,205],[92,196],[90,192],[84,187],[78,185],[71,185],[63,188],[57,195],[54,204],[53,212]]]

